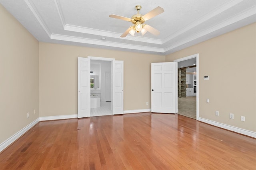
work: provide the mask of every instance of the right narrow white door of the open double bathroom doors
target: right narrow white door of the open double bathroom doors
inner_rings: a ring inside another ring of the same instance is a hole
[[[124,114],[124,61],[113,61],[113,114]]]

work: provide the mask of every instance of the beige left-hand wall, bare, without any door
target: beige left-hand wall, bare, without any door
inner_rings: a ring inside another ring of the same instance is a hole
[[[1,4],[0,23],[2,143],[39,117],[39,47],[38,41]]]

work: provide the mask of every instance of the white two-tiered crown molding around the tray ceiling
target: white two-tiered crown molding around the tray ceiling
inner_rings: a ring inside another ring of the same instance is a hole
[[[135,38],[132,35],[127,35],[125,38],[121,38],[120,37],[121,33],[115,33],[115,32],[111,32],[111,31],[104,31],[104,30],[99,30],[99,29],[92,29],[92,28],[67,24],[65,21],[65,18],[64,18],[64,14],[63,14],[61,5],[60,5],[61,4],[60,0],[54,0],[56,9],[58,11],[58,15],[60,17],[60,21],[62,23],[64,30],[78,32],[78,33],[91,34],[91,35],[98,35],[98,36],[102,36],[102,37],[111,37],[111,38],[120,39],[120,40],[122,39],[122,40],[125,40],[126,42],[131,41],[129,43],[118,43],[118,42],[113,42],[113,41],[112,42],[111,41],[102,41],[102,40],[98,40],[98,39],[88,39],[88,38],[75,37],[75,36],[70,36],[70,35],[52,34],[50,29],[47,27],[46,23],[42,19],[42,16],[40,16],[40,13],[38,12],[33,1],[32,0],[24,0],[24,2],[27,4],[28,8],[31,10],[32,14],[36,18],[36,20],[40,23],[40,25],[42,26],[44,31],[47,33],[47,35],[50,37],[50,39],[70,41],[70,42],[76,42],[76,43],[87,43],[87,44],[93,44],[93,45],[102,45],[102,46],[116,47],[116,48],[122,48],[122,49],[133,49],[133,50],[139,50],[139,51],[157,52],[157,53],[166,53],[166,52],[171,51],[172,49],[180,47],[184,44],[188,44],[190,42],[192,43],[192,41],[199,39],[200,37],[203,37],[203,36],[208,35],[214,31],[222,29],[228,25],[231,25],[240,20],[243,20],[245,18],[255,15],[256,14],[256,6],[252,6],[251,8],[248,8],[248,9],[244,10],[243,12],[240,12],[240,13],[232,16],[232,17],[228,18],[227,20],[221,21],[220,23],[217,23],[204,31],[195,33],[194,35],[180,39],[178,41],[175,41],[173,44],[170,44],[170,41],[172,41],[172,39],[178,37],[179,35],[182,35],[186,31],[204,23],[205,21],[213,18],[214,16],[221,14],[222,12],[228,10],[229,8],[232,8],[233,6],[239,4],[242,1],[245,1],[245,0],[232,0],[231,2],[225,2],[225,3],[221,4],[215,10],[208,12],[208,14],[206,14],[202,18],[196,20],[193,23],[188,24],[183,29],[180,29],[179,31],[166,37],[165,39],[160,40],[160,39],[152,39],[152,38],[141,37],[141,36],[138,36]],[[133,41],[148,43],[148,45],[144,45],[144,46],[134,45],[134,44],[132,44]],[[152,47],[154,45],[164,45],[166,48]]]

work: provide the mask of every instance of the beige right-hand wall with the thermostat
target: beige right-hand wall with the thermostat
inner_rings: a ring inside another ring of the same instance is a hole
[[[256,23],[167,55],[166,61],[196,53],[199,117],[256,132]],[[203,80],[206,75],[210,80]],[[220,116],[215,116],[216,110]]]

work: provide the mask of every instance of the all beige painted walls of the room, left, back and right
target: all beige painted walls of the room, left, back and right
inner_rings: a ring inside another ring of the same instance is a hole
[[[0,21],[0,143],[39,116],[77,114],[77,57],[87,56],[124,60],[124,110],[133,110],[151,107],[150,63],[199,53],[200,117],[256,131],[255,23],[165,57],[38,43],[2,5]]]

